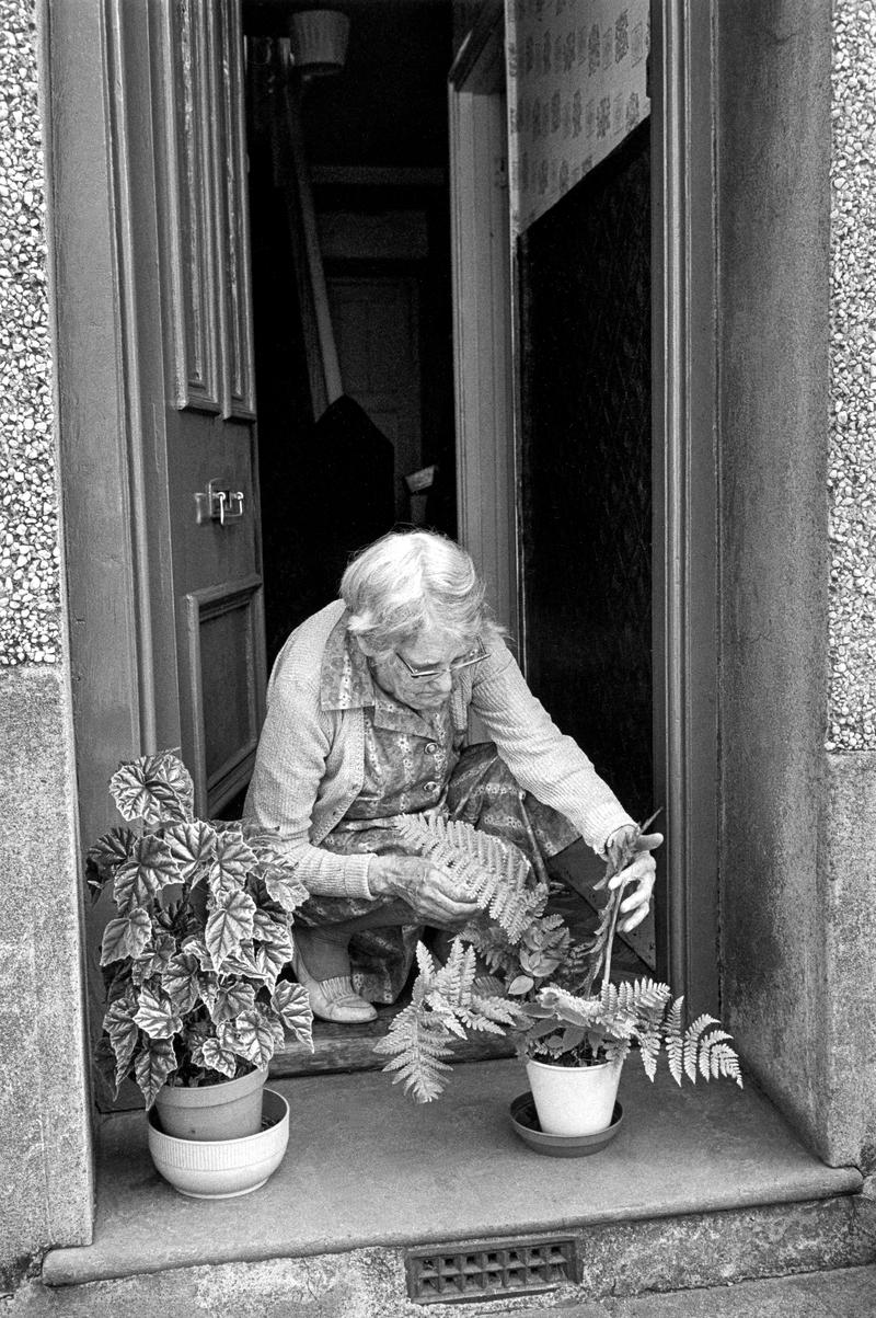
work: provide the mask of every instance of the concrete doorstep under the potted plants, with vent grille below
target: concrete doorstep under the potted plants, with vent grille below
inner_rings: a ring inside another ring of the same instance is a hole
[[[572,1318],[582,1304],[615,1313],[606,1297],[876,1261],[860,1173],[823,1166],[751,1085],[678,1089],[661,1074],[652,1086],[632,1058],[623,1126],[586,1159],[520,1143],[512,1061],[458,1066],[425,1107],[382,1074],[273,1085],[291,1106],[288,1152],[240,1199],[177,1194],[151,1166],[142,1114],[108,1118],[94,1244],[51,1251],[11,1313],[458,1318],[540,1305]],[[568,1267],[545,1263],[551,1251]],[[407,1286],[423,1257],[439,1278],[425,1306]],[[514,1296],[508,1277],[548,1289]]]

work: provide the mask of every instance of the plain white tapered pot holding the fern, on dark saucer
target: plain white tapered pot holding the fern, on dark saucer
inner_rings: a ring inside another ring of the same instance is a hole
[[[623,1062],[552,1066],[530,1060],[526,1073],[545,1135],[595,1135],[611,1126]]]

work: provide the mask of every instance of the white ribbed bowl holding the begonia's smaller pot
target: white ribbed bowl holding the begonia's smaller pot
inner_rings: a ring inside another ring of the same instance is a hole
[[[236,1140],[177,1139],[158,1128],[153,1108],[149,1152],[158,1173],[192,1199],[232,1199],[257,1190],[277,1170],[288,1144],[288,1103],[273,1089],[263,1098],[258,1133]]]

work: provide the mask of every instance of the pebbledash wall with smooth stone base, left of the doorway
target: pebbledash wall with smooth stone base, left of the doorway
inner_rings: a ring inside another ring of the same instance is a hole
[[[0,1275],[92,1202],[37,70],[0,0]]]

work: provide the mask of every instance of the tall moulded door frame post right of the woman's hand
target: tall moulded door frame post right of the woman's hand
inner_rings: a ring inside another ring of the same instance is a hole
[[[652,0],[655,791],[660,966],[721,1007],[714,0]],[[657,825],[660,826],[660,825]]]

